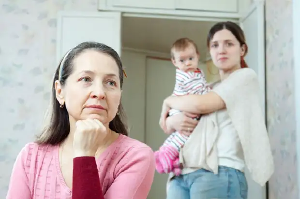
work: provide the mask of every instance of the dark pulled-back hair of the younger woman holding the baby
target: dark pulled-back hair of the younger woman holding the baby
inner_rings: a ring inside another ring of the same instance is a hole
[[[240,28],[239,25],[236,23],[233,23],[231,21],[226,22],[219,22],[215,24],[213,27],[210,28],[209,35],[207,37],[207,47],[210,48],[210,41],[212,40],[214,34],[220,30],[227,29],[229,30],[239,41],[240,46],[245,46],[245,53],[243,57],[240,57],[240,66],[241,68],[248,68],[248,65],[246,64],[244,57],[247,55],[248,52],[248,46],[246,44],[245,34],[244,31]]]

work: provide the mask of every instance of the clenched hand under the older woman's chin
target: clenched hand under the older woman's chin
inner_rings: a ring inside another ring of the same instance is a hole
[[[78,120],[73,140],[75,157],[95,156],[106,135],[106,128],[99,120]]]

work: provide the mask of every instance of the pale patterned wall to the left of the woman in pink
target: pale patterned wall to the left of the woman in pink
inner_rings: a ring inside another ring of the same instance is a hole
[[[1,0],[0,198],[15,157],[41,128],[56,68],[59,10],[97,11],[97,0]]]

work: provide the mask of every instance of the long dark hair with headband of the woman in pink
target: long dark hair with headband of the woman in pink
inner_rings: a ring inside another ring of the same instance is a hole
[[[55,81],[59,80],[60,84],[64,86],[70,74],[73,72],[74,68],[74,59],[81,53],[86,50],[95,50],[101,53],[105,53],[116,61],[119,67],[119,77],[120,77],[120,86],[123,85],[123,67],[122,62],[118,53],[112,49],[111,47],[96,42],[84,42],[77,45],[75,48],[68,51],[65,56],[60,60],[60,64],[57,67],[53,82],[52,82],[52,93],[51,93],[51,102],[48,109],[48,121],[42,133],[37,137],[36,141],[39,144],[58,144],[64,141],[70,132],[70,124],[69,124],[69,115],[68,111],[65,108],[60,108],[60,103],[56,99],[56,91],[55,91]],[[126,116],[124,113],[124,109],[120,102],[120,106],[118,109],[118,113],[116,117],[109,123],[109,128],[117,133],[128,135],[127,125],[125,122]]]

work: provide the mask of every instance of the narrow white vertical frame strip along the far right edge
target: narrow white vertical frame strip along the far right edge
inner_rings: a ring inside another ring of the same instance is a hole
[[[293,0],[293,41],[294,41],[294,81],[295,81],[295,115],[296,115],[296,139],[297,139],[297,172],[300,179],[300,1]],[[297,22],[298,21],[298,22]],[[300,183],[298,183],[300,190]],[[299,191],[298,191],[299,192]]]

